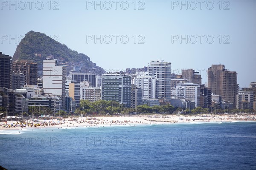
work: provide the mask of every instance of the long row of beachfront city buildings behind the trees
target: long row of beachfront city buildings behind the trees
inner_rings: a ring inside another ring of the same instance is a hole
[[[207,70],[208,82],[202,84],[199,72],[183,69],[174,74],[171,63],[163,60],[150,61],[136,74],[115,71],[96,75],[48,59],[43,62],[43,76],[38,77],[37,63],[31,60],[11,62],[4,54],[0,59],[0,107],[6,108],[8,115],[28,113],[29,106],[73,113],[81,99],[116,101],[127,108],[171,104],[183,110],[216,106],[255,110],[256,82],[239,90],[237,73],[224,65],[212,65]]]

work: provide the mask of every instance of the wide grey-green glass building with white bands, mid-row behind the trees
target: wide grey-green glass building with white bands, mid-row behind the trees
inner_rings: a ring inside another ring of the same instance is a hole
[[[116,101],[131,107],[131,77],[125,74],[102,74],[102,100]]]

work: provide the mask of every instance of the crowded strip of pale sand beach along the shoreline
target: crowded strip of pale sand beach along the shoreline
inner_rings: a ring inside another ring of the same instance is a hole
[[[40,119],[38,122],[27,120],[26,122],[8,121],[0,122],[0,130],[22,130],[23,128],[73,128],[73,127],[106,127],[106,126],[135,126],[151,124],[173,124],[186,122],[232,122],[232,121],[256,121],[254,114],[214,115],[198,114],[187,115],[137,115],[137,116],[101,116],[101,117],[69,117],[62,120]]]

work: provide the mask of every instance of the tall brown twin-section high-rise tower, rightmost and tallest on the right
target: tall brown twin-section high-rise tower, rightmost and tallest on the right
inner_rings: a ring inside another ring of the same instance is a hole
[[[237,73],[228,71],[224,65],[212,65],[208,68],[208,88],[215,95],[236,106]]]

